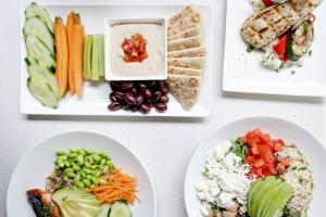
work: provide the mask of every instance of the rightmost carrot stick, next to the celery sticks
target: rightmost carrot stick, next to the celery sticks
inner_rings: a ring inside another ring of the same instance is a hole
[[[72,73],[75,85],[75,91],[79,99],[83,98],[84,86],[84,26],[80,24],[79,15],[76,14],[77,24],[72,29]]]

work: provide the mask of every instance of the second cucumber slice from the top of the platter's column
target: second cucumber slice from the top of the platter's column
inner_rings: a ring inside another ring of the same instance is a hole
[[[54,37],[49,31],[47,25],[36,16],[25,21],[23,28],[24,36],[34,35],[41,40],[50,50],[51,55],[55,58]]]

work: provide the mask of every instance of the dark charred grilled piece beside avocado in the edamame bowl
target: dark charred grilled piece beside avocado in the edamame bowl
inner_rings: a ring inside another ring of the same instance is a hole
[[[26,192],[28,202],[37,217],[61,217],[59,206],[52,201],[52,194],[40,189]]]

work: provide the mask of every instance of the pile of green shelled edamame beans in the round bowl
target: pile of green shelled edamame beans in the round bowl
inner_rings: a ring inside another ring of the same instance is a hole
[[[55,153],[55,170],[63,173],[63,180],[71,181],[75,188],[88,188],[103,184],[101,176],[114,168],[111,157],[104,152],[93,149],[59,150]]]

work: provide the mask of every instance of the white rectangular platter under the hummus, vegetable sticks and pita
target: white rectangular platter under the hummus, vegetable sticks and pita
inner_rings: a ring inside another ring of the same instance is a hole
[[[24,58],[26,56],[25,43],[23,34],[21,35],[21,112],[28,115],[99,115],[99,116],[163,116],[163,117],[205,117],[211,112],[211,76],[212,76],[212,51],[213,43],[213,3],[214,1],[202,1],[200,4],[193,4],[202,12],[203,30],[205,33],[205,46],[208,52],[206,67],[202,80],[201,92],[197,103],[190,111],[185,111],[181,105],[170,94],[170,102],[165,113],[158,113],[152,110],[150,114],[142,115],[139,112],[133,113],[129,111],[111,112],[108,110],[110,103],[109,93],[111,92],[108,81],[90,82],[85,81],[84,98],[78,100],[76,97],[67,94],[57,110],[48,108],[37,102],[30,94],[26,80],[28,73],[26,71]],[[62,16],[65,21],[71,11],[80,14],[82,23],[85,26],[87,34],[104,34],[105,18],[124,18],[124,17],[171,17],[173,14],[181,10],[187,4],[185,3],[159,3],[150,1],[149,3],[120,3],[117,1],[108,1],[105,3],[91,4],[87,3],[40,3],[50,16]],[[27,5],[22,5],[21,9],[21,26],[24,25],[24,11]]]

